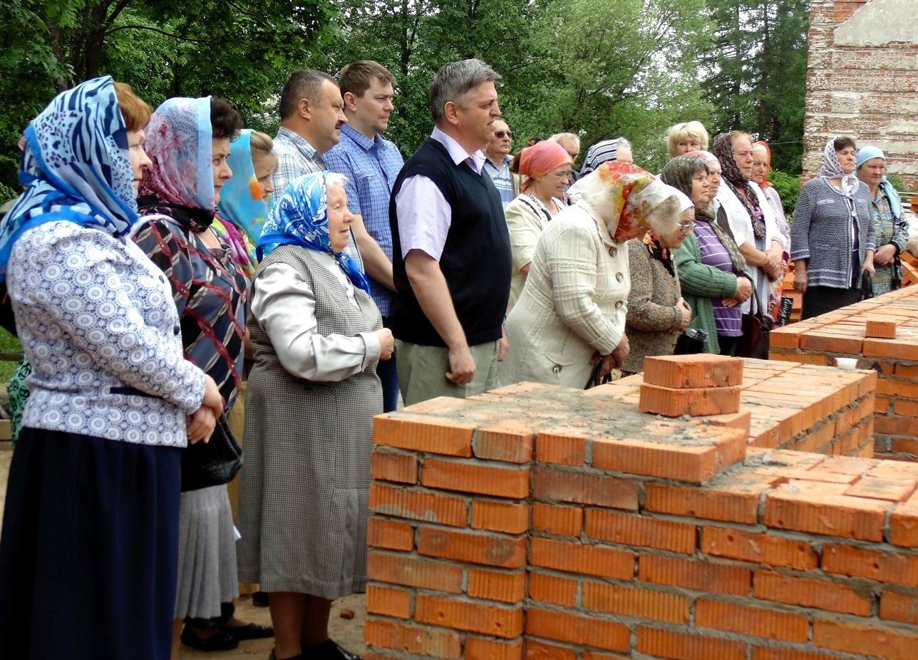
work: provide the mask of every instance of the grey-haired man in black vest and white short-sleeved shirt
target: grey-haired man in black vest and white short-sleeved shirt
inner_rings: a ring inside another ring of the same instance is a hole
[[[509,234],[482,152],[500,116],[499,81],[479,60],[437,72],[430,91],[436,128],[392,189],[397,296],[390,322],[406,405],[487,391],[506,352]]]

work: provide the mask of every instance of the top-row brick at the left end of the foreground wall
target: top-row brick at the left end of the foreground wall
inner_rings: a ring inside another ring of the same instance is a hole
[[[472,455],[476,424],[446,417],[388,412],[373,418],[373,442],[416,452]]]

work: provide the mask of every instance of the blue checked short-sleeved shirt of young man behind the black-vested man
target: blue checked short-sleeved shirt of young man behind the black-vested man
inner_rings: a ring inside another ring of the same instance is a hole
[[[405,161],[395,144],[376,135],[370,140],[345,124],[341,141],[325,153],[332,172],[348,178],[347,206],[364,218],[364,226],[392,261],[392,229],[389,225],[389,196]],[[388,316],[395,294],[370,278],[370,295],[380,314]]]

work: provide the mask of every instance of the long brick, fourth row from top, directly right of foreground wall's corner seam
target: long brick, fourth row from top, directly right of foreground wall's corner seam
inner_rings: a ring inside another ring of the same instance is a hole
[[[529,553],[532,566],[620,580],[634,576],[634,555],[617,548],[532,537]]]

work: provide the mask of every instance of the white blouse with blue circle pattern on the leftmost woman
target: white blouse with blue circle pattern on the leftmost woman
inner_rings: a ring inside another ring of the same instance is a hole
[[[136,245],[47,222],[14,244],[6,285],[35,370],[23,426],[185,446],[204,375],[182,354],[166,278]]]

